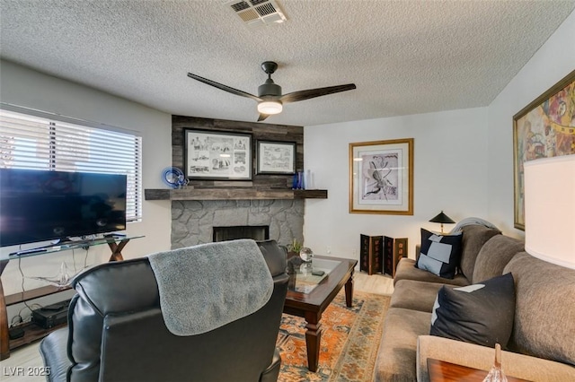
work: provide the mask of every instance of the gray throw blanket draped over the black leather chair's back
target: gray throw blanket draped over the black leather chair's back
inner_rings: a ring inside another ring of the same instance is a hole
[[[273,292],[270,270],[252,239],[202,244],[148,257],[165,326],[176,335],[206,333],[251,315]]]

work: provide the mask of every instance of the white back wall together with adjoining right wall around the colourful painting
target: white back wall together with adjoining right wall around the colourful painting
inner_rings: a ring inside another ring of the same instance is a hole
[[[438,230],[429,219],[441,210],[455,221],[486,219],[523,238],[513,227],[513,116],[575,69],[573,36],[575,12],[486,108],[305,126],[305,167],[329,191],[328,200],[305,202],[305,245],[358,258],[360,233],[387,235],[409,238],[414,257],[420,228]],[[411,137],[414,214],[349,213],[349,143]]]

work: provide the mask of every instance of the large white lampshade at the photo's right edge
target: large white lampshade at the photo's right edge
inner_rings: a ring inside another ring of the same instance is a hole
[[[526,161],[525,249],[575,269],[575,155]]]

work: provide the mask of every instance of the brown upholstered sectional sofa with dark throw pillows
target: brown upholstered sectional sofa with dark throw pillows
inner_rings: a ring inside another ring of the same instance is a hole
[[[483,225],[463,227],[460,272],[453,280],[403,258],[385,317],[374,380],[429,381],[427,359],[489,370],[490,347],[429,335],[438,290],[504,273],[515,281],[514,327],[502,354],[504,371],[531,381],[575,381],[575,270],[530,256],[524,243]]]

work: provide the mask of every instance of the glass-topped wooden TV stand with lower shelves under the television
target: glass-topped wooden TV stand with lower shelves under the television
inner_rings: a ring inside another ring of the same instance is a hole
[[[31,256],[41,256],[49,253],[63,252],[71,249],[95,247],[102,244],[107,244],[111,250],[111,256],[109,261],[120,261],[123,260],[122,249],[126,247],[129,240],[140,239],[143,236],[128,237],[122,235],[106,235],[100,239],[90,239],[90,240],[76,240],[76,241],[66,241],[61,242],[56,245],[48,247],[38,247],[28,250],[22,250],[14,252],[8,256],[8,258],[0,259],[0,360],[5,360],[10,357],[10,351],[16,349],[22,345],[36,341],[50,332],[56,330],[57,326],[50,329],[42,329],[40,326],[35,324],[23,324],[25,327],[25,334],[21,338],[10,339],[9,336],[9,322],[8,322],[8,311],[6,307],[21,303],[23,301],[34,300],[40,297],[49,296],[60,291],[67,291],[70,289],[69,286],[57,287],[53,285],[47,285],[40,288],[31,289],[29,291],[22,291],[19,293],[14,293],[8,296],[4,296],[4,287],[2,285],[2,273],[4,273],[4,268],[8,263],[14,259],[20,257],[31,257]]]

